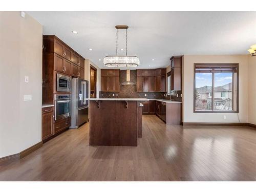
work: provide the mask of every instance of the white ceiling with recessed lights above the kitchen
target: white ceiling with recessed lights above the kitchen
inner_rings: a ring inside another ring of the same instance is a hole
[[[139,57],[138,68],[166,67],[173,55],[248,54],[249,46],[256,44],[256,12],[27,13],[44,26],[44,34],[56,35],[100,68],[104,56],[116,53],[116,25],[129,26],[128,55]],[[118,47],[124,55],[125,30],[119,30]]]

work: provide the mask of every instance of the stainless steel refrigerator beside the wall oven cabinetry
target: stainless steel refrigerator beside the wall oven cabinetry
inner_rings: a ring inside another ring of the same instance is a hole
[[[80,78],[71,80],[71,129],[78,128],[89,120],[88,81]]]

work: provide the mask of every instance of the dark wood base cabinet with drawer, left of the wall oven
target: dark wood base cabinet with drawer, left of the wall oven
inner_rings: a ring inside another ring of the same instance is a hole
[[[53,107],[42,108],[42,141],[53,136]]]

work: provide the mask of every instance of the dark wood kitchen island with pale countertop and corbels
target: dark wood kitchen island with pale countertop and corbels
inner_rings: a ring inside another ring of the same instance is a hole
[[[90,98],[90,145],[137,146],[146,98]]]

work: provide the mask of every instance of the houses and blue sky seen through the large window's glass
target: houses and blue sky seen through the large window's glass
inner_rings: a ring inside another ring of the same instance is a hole
[[[195,111],[236,111],[236,71],[216,72],[214,69],[204,72],[202,68],[195,71]]]

